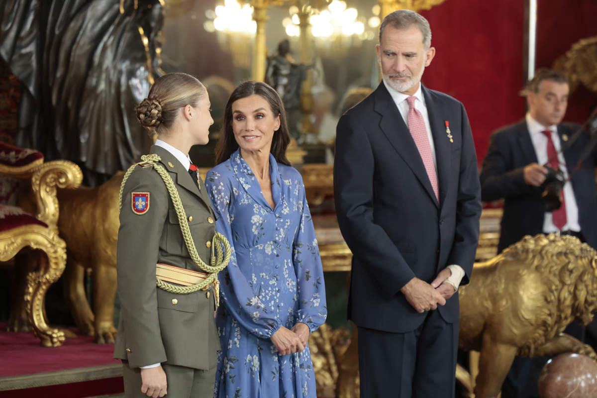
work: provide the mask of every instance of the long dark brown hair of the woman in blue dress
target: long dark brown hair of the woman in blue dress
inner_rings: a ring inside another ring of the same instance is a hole
[[[286,149],[288,144],[290,144],[290,132],[288,132],[288,126],[286,125],[284,104],[276,90],[273,90],[272,87],[265,83],[252,80],[241,83],[236,87],[226,103],[221,137],[216,146],[216,164],[226,161],[238,149],[238,143],[236,143],[234,132],[232,131],[232,104],[236,100],[250,97],[253,94],[259,95],[269,103],[274,118],[278,115],[280,116],[280,127],[273,133],[270,153],[272,153],[276,162],[290,166],[290,161],[286,157]]]

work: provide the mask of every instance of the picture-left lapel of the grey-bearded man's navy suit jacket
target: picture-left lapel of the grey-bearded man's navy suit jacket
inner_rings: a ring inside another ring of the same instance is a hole
[[[394,147],[398,155],[404,159],[408,167],[413,171],[417,180],[429,194],[433,202],[438,205],[435,193],[427,176],[423,159],[418,153],[417,144],[414,143],[413,136],[410,134],[404,119],[400,115],[392,96],[387,92],[386,86],[381,82],[375,91],[375,112],[381,115],[380,129],[390,144]]]

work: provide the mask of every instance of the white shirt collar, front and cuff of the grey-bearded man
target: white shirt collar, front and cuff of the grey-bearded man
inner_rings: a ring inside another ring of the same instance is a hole
[[[408,110],[410,107],[408,106],[407,98],[410,97],[408,94],[404,94],[402,92],[394,90],[392,87],[386,84],[383,81],[383,84],[386,86],[387,91],[392,96],[392,100],[396,104],[398,108],[398,112],[402,116],[404,120],[404,124],[407,125],[408,128]],[[421,112],[423,116],[423,121],[425,122],[425,129],[427,130],[427,138],[429,138],[429,146],[431,147],[431,153],[433,155],[433,165],[435,166],[435,174],[438,174],[438,161],[435,157],[435,144],[433,143],[433,135],[431,134],[431,124],[429,123],[429,113],[427,112],[427,106],[425,104],[425,97],[423,96],[423,91],[421,91],[421,84],[418,84],[417,91],[413,94],[416,100],[414,101],[414,107],[418,112]],[[461,266],[457,264],[451,264],[447,267],[451,271],[450,277],[445,280],[445,282],[450,283],[454,287],[454,290],[458,290],[458,286],[460,285],[460,281],[464,277],[464,270]]]

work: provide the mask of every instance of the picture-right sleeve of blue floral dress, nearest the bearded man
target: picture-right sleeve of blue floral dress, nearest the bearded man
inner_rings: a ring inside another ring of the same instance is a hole
[[[301,217],[293,242],[293,264],[300,303],[297,322],[305,323],[313,333],[325,322],[328,309],[325,301],[324,271],[303,181],[300,181],[300,189],[303,195],[297,207]]]

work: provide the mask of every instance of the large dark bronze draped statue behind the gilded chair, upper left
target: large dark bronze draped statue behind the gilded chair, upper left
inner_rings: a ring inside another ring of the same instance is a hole
[[[163,0],[6,0],[0,58],[22,84],[16,144],[96,186],[152,144],[130,110],[162,74]]]

